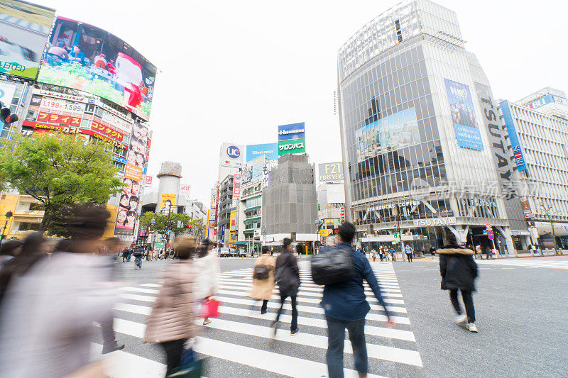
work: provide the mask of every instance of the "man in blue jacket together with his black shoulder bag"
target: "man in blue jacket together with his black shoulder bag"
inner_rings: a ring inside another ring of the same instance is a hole
[[[316,284],[324,284],[321,305],[327,321],[327,371],[329,378],[343,377],[343,348],[345,328],[355,358],[355,369],[359,377],[368,372],[367,346],[365,343],[365,317],[371,310],[366,301],[363,281],[365,280],[387,316],[387,325],[395,327],[391,313],[386,308],[381,289],[366,258],[356,253],[351,246],[355,235],[352,223],[339,226],[337,244],[321,255],[312,257],[312,278]],[[335,267],[335,269],[334,269]],[[335,271],[327,274],[327,271]]]

